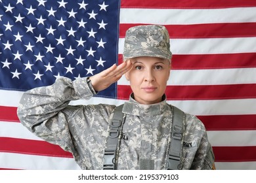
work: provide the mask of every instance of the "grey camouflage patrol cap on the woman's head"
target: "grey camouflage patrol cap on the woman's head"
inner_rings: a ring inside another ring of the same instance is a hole
[[[139,25],[126,31],[123,58],[140,56],[171,59],[169,33],[163,25]]]

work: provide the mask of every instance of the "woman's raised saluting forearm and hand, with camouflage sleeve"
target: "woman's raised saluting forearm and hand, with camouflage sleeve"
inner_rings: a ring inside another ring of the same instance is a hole
[[[123,62],[119,66],[112,65],[105,71],[91,76],[91,83],[87,82],[87,78],[79,78],[73,82],[69,78],[60,78],[51,86],[29,90],[20,100],[18,117],[27,127],[30,124],[29,129],[33,131],[33,125],[53,117],[66,108],[70,101],[90,99],[96,94],[95,91],[108,88],[129,69],[131,61]]]

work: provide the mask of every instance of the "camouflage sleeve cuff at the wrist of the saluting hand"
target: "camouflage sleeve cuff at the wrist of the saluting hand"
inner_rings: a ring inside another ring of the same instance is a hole
[[[97,92],[93,89],[91,82],[89,82],[88,77],[77,78],[73,81],[74,90],[79,95],[81,99],[91,99],[93,95],[96,95]]]

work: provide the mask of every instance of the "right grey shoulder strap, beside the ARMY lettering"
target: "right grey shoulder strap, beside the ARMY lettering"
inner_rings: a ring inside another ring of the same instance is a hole
[[[167,170],[180,169],[184,112],[173,106],[173,124]]]

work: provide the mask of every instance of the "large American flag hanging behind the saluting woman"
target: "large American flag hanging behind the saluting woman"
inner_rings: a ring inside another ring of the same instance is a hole
[[[20,97],[121,63],[125,31],[142,24],[167,27],[167,101],[205,124],[217,169],[256,169],[255,0],[0,0],[0,169],[79,169],[20,124]],[[129,93],[121,78],[71,104],[119,105]]]

